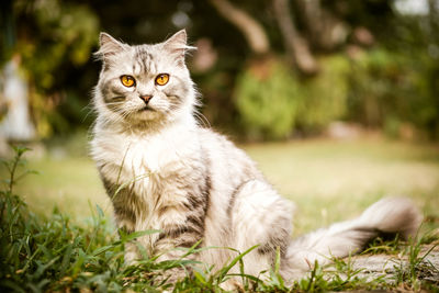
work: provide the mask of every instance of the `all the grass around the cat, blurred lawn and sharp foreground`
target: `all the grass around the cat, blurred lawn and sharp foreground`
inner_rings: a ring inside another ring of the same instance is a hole
[[[297,233],[346,219],[380,196],[394,193],[413,198],[423,209],[429,219],[426,230],[439,226],[439,150],[436,147],[376,139],[244,147],[268,179],[302,210],[296,221]],[[19,173],[13,166],[22,162],[20,151],[23,155],[25,150],[18,149],[15,160],[5,162],[14,170],[15,178]],[[29,164],[21,167],[24,167],[21,171],[36,169],[40,174],[30,174],[18,184],[7,182],[1,191],[0,289],[155,292],[170,290],[164,283],[168,270],[195,266],[182,259],[158,262],[146,255],[137,266],[124,266],[123,246],[138,235],[117,236],[109,217],[111,206],[89,159],[82,156],[29,157]],[[10,178],[10,174],[11,171],[3,172],[2,178]],[[421,251],[425,243],[437,241],[437,235],[427,238],[408,246],[397,240],[375,241],[371,246],[370,253],[403,251],[407,256],[409,266],[398,268],[393,283],[361,277],[361,270],[353,269],[348,259],[336,260],[330,270],[316,266],[308,277],[291,286],[285,285],[277,268],[264,281],[241,274],[243,290],[316,292],[405,288],[437,291],[438,286],[418,278],[425,270],[437,270],[425,263],[426,252]],[[188,253],[194,251],[195,247]],[[193,278],[175,284],[175,291],[221,291],[219,285],[230,278],[229,267],[239,264],[241,257],[230,260],[229,266],[216,273],[196,264]]]

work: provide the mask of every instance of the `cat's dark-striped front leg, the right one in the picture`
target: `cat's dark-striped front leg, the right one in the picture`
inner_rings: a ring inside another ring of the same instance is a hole
[[[198,247],[202,245],[210,178],[205,172],[198,173],[193,170],[194,168],[185,168],[167,178],[168,184],[160,194],[160,204],[154,212],[156,224],[161,230],[154,243],[154,252],[159,256],[159,261],[182,258],[193,260],[199,257],[198,253],[188,253],[188,249],[198,243]],[[185,277],[187,269],[191,268],[173,270],[171,279]]]

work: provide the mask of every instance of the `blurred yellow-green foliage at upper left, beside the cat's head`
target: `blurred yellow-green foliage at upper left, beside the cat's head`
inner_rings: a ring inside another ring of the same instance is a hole
[[[81,88],[80,78],[71,80],[68,74],[90,60],[98,42],[99,20],[87,5],[58,0],[14,1],[11,13],[18,22],[13,52],[21,56],[21,68],[31,86],[37,133],[44,138],[55,131],[65,132],[69,123],[55,110],[60,103],[78,104],[70,101],[78,97],[67,95],[65,90]]]

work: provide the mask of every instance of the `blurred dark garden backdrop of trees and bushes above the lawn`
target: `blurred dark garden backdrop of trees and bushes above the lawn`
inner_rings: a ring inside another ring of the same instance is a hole
[[[5,0],[1,134],[46,139],[89,127],[100,31],[143,44],[184,27],[199,47],[188,64],[202,112],[238,139],[359,127],[438,139],[438,13],[437,0]],[[22,121],[11,87],[24,95]]]

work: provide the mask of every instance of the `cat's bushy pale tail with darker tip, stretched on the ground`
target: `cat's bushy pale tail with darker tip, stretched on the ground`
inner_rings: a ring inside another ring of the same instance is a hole
[[[415,204],[405,198],[387,198],[372,204],[360,217],[336,223],[293,240],[286,251],[283,275],[294,278],[300,271],[360,252],[380,235],[396,235],[404,239],[415,237],[423,216]]]

